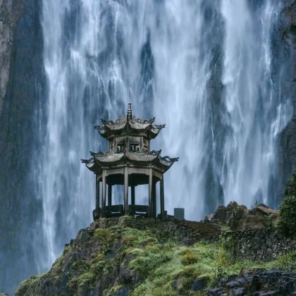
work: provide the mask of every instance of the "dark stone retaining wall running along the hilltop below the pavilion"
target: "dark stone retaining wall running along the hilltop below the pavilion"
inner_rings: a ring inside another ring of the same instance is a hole
[[[172,238],[184,245],[193,245],[199,240],[221,241],[240,259],[269,261],[285,252],[296,250],[296,241],[284,238],[276,229],[254,229],[221,232],[218,226],[210,222],[183,221],[168,219],[160,221],[154,218],[120,218],[99,219],[92,223],[90,229],[97,227],[126,226],[130,228],[156,228],[170,233]]]

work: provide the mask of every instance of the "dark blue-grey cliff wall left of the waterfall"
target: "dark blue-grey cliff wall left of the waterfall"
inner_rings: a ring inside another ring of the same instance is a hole
[[[7,39],[1,40],[6,47],[0,51],[4,61],[0,94],[5,93],[0,117],[0,288],[9,293],[37,271],[34,238],[40,232],[36,223],[41,204],[32,195],[33,178],[28,172],[42,120],[35,111],[43,104],[46,89],[40,6],[39,0],[12,1],[11,7],[8,1],[0,1],[0,32],[7,33]]]

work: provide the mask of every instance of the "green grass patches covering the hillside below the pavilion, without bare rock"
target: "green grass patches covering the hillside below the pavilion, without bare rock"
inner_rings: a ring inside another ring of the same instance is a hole
[[[295,262],[292,260],[295,252],[266,263],[241,261],[232,255],[228,242],[197,242],[192,247],[185,247],[157,230],[120,226],[98,228],[90,238],[90,243],[98,244],[98,251],[92,254],[91,259],[73,262],[70,269],[75,269],[75,275],[68,281],[70,292],[81,287],[92,290],[99,277],[114,274],[114,270],[127,261],[128,267],[140,276],[136,285],[130,285],[131,295],[178,295],[185,291],[187,295],[197,295],[191,290],[196,280],[202,280],[206,287],[210,287],[223,276],[238,274],[241,269],[295,270]],[[119,244],[120,251],[115,257],[107,259],[115,243],[117,246]],[[66,247],[51,271],[25,280],[20,284],[17,295],[32,295],[42,278],[61,275],[71,252],[71,247]],[[122,283],[111,283],[104,295],[112,295],[122,286]]]

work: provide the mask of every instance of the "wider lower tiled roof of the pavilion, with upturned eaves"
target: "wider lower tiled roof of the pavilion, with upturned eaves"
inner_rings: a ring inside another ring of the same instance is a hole
[[[91,171],[98,171],[101,166],[113,166],[116,164],[125,164],[130,162],[138,166],[146,166],[147,164],[154,164],[161,166],[164,171],[167,171],[178,158],[171,158],[169,156],[162,157],[161,151],[152,152],[120,152],[120,153],[93,153],[90,159],[82,159],[82,163],[86,164]]]

